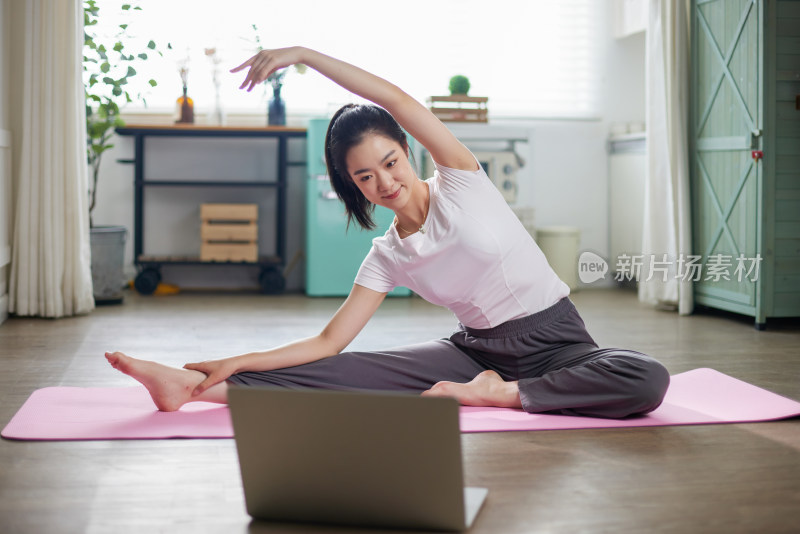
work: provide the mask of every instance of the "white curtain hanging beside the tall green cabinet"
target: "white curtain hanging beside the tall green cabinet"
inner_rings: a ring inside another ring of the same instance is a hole
[[[684,0],[650,0],[647,26],[647,180],[639,300],[694,308],[681,272],[691,254],[689,23]],[[686,279],[684,279],[686,278]]]

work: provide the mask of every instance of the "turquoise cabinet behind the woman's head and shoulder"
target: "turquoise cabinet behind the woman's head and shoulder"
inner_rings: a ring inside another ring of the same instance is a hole
[[[348,295],[372,240],[383,235],[394,219],[391,210],[379,206],[375,209],[375,230],[362,230],[357,224],[347,228],[344,204],[333,192],[325,168],[328,123],[328,119],[309,121],[306,144],[306,294],[314,297]],[[410,294],[404,287],[389,293]]]

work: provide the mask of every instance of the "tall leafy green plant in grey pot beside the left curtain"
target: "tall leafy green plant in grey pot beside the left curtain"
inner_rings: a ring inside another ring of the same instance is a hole
[[[126,12],[139,11],[140,7],[123,4]],[[148,54],[158,53],[156,44],[149,41],[145,50],[131,52],[125,44],[129,40],[128,24],[119,24],[115,33],[101,35],[97,31],[100,7],[96,0],[83,4],[84,46],[83,72],[86,90],[86,141],[90,169],[89,224],[91,227],[92,283],[98,304],[122,302],[125,262],[124,226],[95,226],[92,212],[97,204],[98,178],[103,154],[113,148],[114,129],[124,126],[120,108],[141,94],[131,94],[128,80],[137,75],[136,66],[148,59]],[[150,87],[156,81],[149,80]],[[145,102],[146,104],[146,102]]]

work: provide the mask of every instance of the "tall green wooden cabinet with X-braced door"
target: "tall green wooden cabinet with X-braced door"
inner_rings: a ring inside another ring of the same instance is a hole
[[[695,302],[800,316],[800,2],[693,0],[691,51]]]

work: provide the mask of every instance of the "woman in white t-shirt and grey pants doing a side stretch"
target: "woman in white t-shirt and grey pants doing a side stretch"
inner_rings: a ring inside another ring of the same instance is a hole
[[[160,410],[226,402],[228,384],[417,391],[462,404],[528,412],[627,417],[661,403],[669,375],[633,351],[598,349],[547,264],[472,153],[424,106],[362,69],[301,47],[263,50],[248,69],[251,91],[277,69],[304,63],[380,107],[348,105],[326,138],[331,182],[349,221],[370,228],[375,205],[395,214],[341,308],[318,335],[264,352],[184,369],[107,353],[141,382]],[[420,181],[405,128],[436,172]],[[389,351],[346,352],[395,286],[451,309],[446,340]]]

